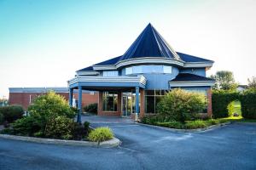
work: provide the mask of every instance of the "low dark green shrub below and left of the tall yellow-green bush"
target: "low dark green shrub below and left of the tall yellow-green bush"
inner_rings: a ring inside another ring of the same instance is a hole
[[[33,133],[37,133],[41,130],[42,122],[35,116],[26,116],[13,124],[14,133],[17,135],[33,136]]]

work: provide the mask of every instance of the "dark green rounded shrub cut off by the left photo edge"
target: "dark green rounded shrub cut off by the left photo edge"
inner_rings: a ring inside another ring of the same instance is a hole
[[[3,114],[4,121],[15,122],[22,117],[24,110],[20,105],[9,105],[0,107],[0,113]]]

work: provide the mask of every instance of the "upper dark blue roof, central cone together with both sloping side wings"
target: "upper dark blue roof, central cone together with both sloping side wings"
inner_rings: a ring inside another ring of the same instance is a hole
[[[163,57],[168,59],[180,59],[184,62],[213,62],[210,59],[203,59],[189,54],[176,53],[160,36],[158,31],[149,23],[143,32],[137,37],[136,41],[124,55],[108,59],[96,65],[115,65],[120,60],[143,58],[143,57]],[[85,67],[79,71],[93,71],[93,65]]]

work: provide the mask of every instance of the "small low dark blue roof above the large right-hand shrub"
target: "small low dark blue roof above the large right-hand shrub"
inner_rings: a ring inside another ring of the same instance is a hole
[[[201,77],[195,74],[179,73],[177,77],[172,79],[170,82],[193,82],[193,81],[215,81],[212,78]]]

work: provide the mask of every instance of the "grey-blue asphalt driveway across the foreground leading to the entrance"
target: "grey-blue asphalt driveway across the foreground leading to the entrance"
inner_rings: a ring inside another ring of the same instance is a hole
[[[172,133],[130,119],[83,116],[122,140],[102,149],[0,139],[0,169],[256,169],[256,126]]]

